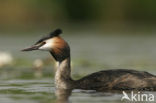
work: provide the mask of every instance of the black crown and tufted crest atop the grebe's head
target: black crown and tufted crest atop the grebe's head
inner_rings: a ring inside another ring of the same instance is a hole
[[[49,35],[44,36],[43,38],[41,38],[39,41],[37,41],[35,44],[41,43],[44,40],[47,40],[49,38],[55,37],[55,36],[59,36],[62,33],[61,29],[56,29],[53,32],[51,32]]]

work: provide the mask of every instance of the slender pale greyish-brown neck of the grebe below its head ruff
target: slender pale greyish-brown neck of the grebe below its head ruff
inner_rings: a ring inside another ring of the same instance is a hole
[[[55,73],[55,84],[57,88],[69,89],[72,86],[70,56],[59,62]]]

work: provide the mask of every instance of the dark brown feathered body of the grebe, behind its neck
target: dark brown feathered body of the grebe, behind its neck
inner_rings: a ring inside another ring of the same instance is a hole
[[[77,89],[87,90],[156,90],[156,76],[143,71],[115,69],[99,71],[75,83]]]

